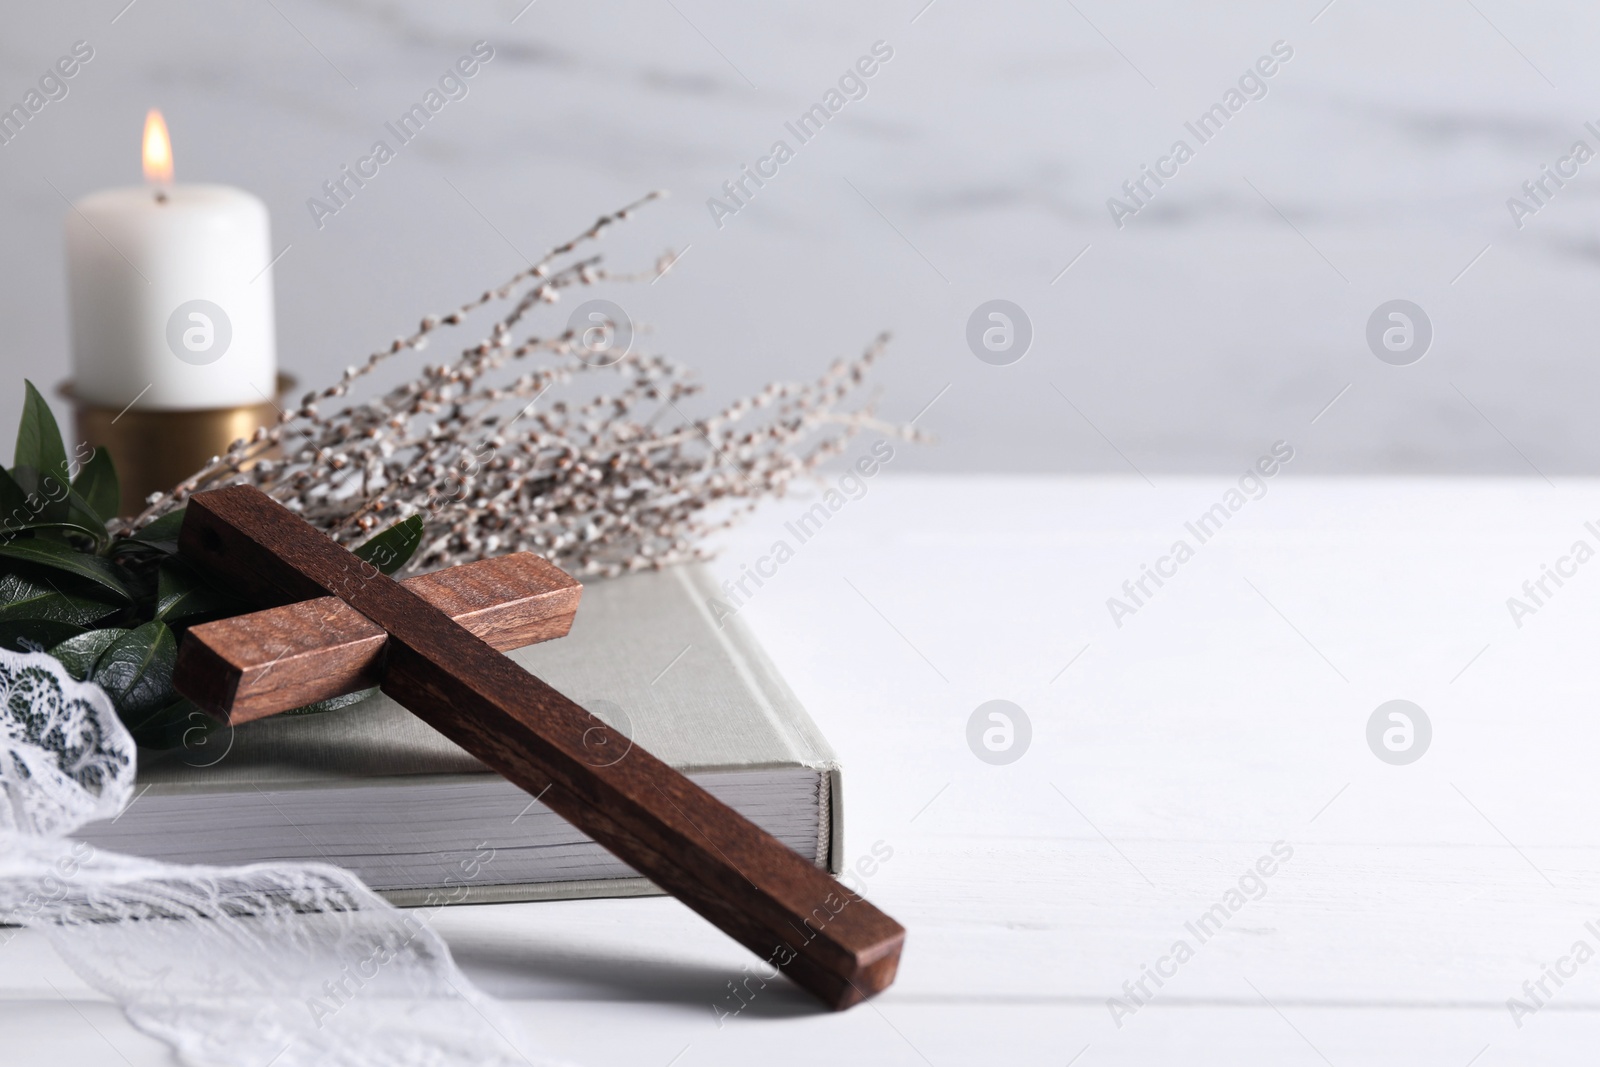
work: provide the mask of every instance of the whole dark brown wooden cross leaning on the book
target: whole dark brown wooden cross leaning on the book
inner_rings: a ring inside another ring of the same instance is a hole
[[[571,624],[578,582],[547,561],[397,582],[251,486],[190,498],[178,547],[269,606],[184,635],[174,683],[206,710],[246,721],[379,685],[829,1008],[894,981],[899,923],[638,745],[597,758],[605,721],[498,651]]]

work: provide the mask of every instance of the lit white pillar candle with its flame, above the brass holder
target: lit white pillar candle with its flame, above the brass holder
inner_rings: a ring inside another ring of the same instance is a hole
[[[256,405],[275,395],[267,205],[229,186],[173,186],[160,112],[146,187],[67,213],[72,389],[139,410]]]

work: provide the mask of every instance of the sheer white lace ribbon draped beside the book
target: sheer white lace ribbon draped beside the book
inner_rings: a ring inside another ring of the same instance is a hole
[[[0,921],[45,933],[194,1067],[530,1064],[426,909],[328,864],[186,867],[75,841],[133,795],[110,699],[0,649]]]

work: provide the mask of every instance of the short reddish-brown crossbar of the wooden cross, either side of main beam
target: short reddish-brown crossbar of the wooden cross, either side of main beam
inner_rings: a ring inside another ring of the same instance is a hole
[[[501,651],[565,637],[582,595],[578,579],[530,552],[421,574],[403,585]],[[218,718],[248,723],[376,686],[386,640],[382,627],[355,608],[318,597],[192,627],[176,678]]]

